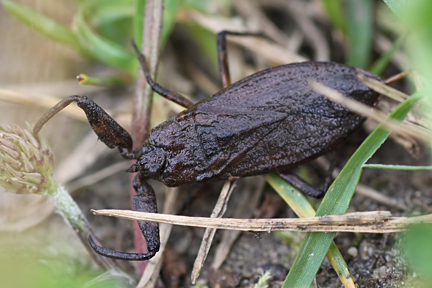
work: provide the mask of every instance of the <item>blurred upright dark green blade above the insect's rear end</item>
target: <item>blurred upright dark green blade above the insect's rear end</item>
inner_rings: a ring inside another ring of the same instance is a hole
[[[348,0],[348,39],[346,63],[366,68],[369,64],[373,36],[372,0]]]

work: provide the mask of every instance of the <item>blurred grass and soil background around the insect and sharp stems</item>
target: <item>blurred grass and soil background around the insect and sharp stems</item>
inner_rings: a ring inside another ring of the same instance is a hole
[[[1,3],[0,123],[26,127],[26,122],[34,124],[61,99],[87,95],[131,131],[138,63],[130,39],[140,40],[136,17],[142,1],[3,0]],[[416,20],[407,24],[403,19],[413,18],[402,15],[403,18],[396,4],[397,1],[378,0],[165,0],[157,79],[164,87],[194,102],[213,95],[221,89],[216,34],[232,30],[266,36],[229,37],[232,82],[272,66],[318,60],[362,67],[383,79],[416,68],[421,76],[413,73],[393,87],[407,94],[419,88],[428,92],[424,79],[429,76],[427,67],[432,63],[427,53],[431,42],[423,36],[432,35],[428,34],[432,31],[428,22],[431,7],[426,3],[426,8],[420,10],[422,13],[416,14]],[[76,79],[81,73],[86,74],[83,85]],[[389,111],[395,103],[383,101],[380,105]],[[151,127],[181,110],[155,95]],[[413,121],[421,120],[415,114],[410,117]],[[368,121],[343,144],[344,149],[338,151],[341,159],[337,167],[343,166],[375,126],[376,123]],[[122,173],[128,162],[118,155],[117,149],[110,150],[97,141],[76,105],[56,115],[42,133],[54,153],[55,179],[76,200],[104,246],[133,251],[130,221],[94,216],[89,211],[130,209],[129,175]],[[428,151],[427,145],[414,139],[394,138],[384,143],[372,162],[427,165]],[[330,153],[320,161],[300,167],[297,173],[319,187],[326,176],[323,161],[329,163],[334,158]],[[390,210],[394,215],[431,212],[430,172],[366,169],[362,183],[382,197],[356,194],[349,212],[376,209]],[[166,188],[157,182],[151,184],[162,210]],[[221,185],[181,187],[178,213],[210,215]],[[260,177],[240,180],[235,189],[227,217],[295,217]],[[311,201],[318,206],[317,200]],[[237,210],[240,215],[235,214]],[[0,275],[6,283],[4,287],[83,287],[103,272],[46,197],[1,191],[0,231]],[[165,265],[157,281],[159,287],[191,286],[190,273],[202,234],[203,229],[173,228],[165,251]],[[223,237],[222,231],[218,231],[215,243]],[[419,270],[403,257],[402,238],[399,234],[340,233],[335,241],[361,287],[405,287],[407,283],[415,285]],[[196,287],[253,287],[269,269],[270,285],[280,287],[299,249],[302,234],[266,233],[256,241],[252,234],[244,232],[233,239],[228,241],[230,244],[224,242],[229,254],[218,270],[211,267],[218,253],[216,244],[213,245],[199,278],[202,286]],[[326,261],[316,277],[316,287],[341,287]],[[122,262],[120,266],[138,279],[137,263]]]

